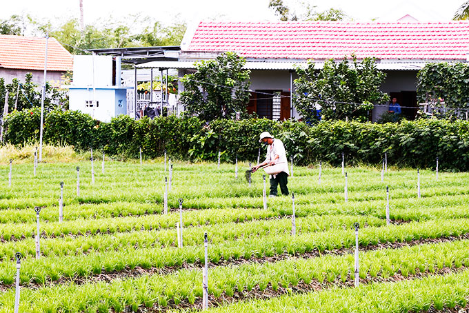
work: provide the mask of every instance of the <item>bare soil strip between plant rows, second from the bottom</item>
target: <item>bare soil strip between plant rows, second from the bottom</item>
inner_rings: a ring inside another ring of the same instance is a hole
[[[463,234],[461,236],[446,236],[446,237],[440,237],[437,239],[417,239],[409,242],[395,242],[395,243],[378,243],[377,245],[368,245],[366,247],[361,247],[361,251],[372,251],[372,250],[382,250],[382,249],[399,249],[399,248],[404,248],[404,247],[410,247],[414,245],[422,245],[422,244],[431,244],[431,243],[445,243],[445,242],[451,242],[451,241],[460,241],[460,240],[465,240],[469,239],[469,233]],[[228,265],[242,265],[246,263],[272,263],[272,262],[277,262],[277,261],[283,261],[287,259],[292,259],[292,258],[303,258],[303,259],[309,259],[309,258],[315,258],[319,257],[322,255],[334,255],[334,256],[341,256],[345,254],[353,254],[355,253],[355,247],[351,248],[340,248],[340,249],[334,249],[334,250],[325,250],[323,252],[320,252],[319,250],[315,249],[312,252],[305,252],[301,254],[288,254],[288,253],[283,253],[283,254],[277,254],[275,256],[252,256],[250,259],[228,259],[224,260],[221,259],[218,263],[210,263],[208,266],[209,268],[213,267],[221,267],[221,266],[228,266]],[[32,290],[37,290],[42,287],[51,287],[54,285],[62,285],[62,284],[67,284],[67,283],[74,283],[76,285],[83,285],[85,283],[97,283],[101,281],[105,282],[112,282],[117,279],[129,279],[129,278],[137,278],[139,276],[143,275],[154,275],[154,274],[159,274],[159,275],[168,275],[172,274],[174,272],[177,272],[178,270],[199,270],[201,269],[202,264],[197,261],[195,263],[183,263],[181,266],[166,266],[166,267],[150,267],[148,269],[145,269],[143,267],[134,267],[133,269],[130,269],[129,267],[124,268],[121,271],[114,270],[112,272],[101,272],[101,274],[92,274],[90,273],[89,276],[74,276],[74,277],[65,277],[62,276],[59,278],[57,281],[51,281],[50,279],[46,281],[45,283],[36,283],[36,282],[29,282],[29,283],[23,283],[21,284],[21,287],[26,287],[30,288]],[[0,284],[0,292],[6,292],[10,290],[10,288],[14,287],[14,285],[3,285]]]

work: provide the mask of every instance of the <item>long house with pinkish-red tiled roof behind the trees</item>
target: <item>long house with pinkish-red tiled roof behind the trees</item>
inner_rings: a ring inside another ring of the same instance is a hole
[[[295,66],[312,59],[319,69],[327,59],[351,54],[358,59],[375,57],[377,68],[387,74],[381,90],[397,97],[402,106],[417,107],[416,75],[426,63],[468,61],[469,21],[200,22],[188,28],[179,61],[173,67],[165,66],[179,68],[182,76],[194,68],[194,61],[213,59],[226,51],[246,57],[253,91],[248,111],[261,117],[297,117],[288,97],[266,99],[268,93],[289,96],[295,91]],[[161,66],[153,63],[153,67]],[[375,108],[373,119],[386,110],[386,106]],[[417,109],[403,109],[410,117],[415,112]]]

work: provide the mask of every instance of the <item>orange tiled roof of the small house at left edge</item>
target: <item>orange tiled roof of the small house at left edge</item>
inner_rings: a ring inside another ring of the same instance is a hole
[[[44,70],[46,39],[0,34],[0,67]],[[48,40],[47,70],[72,70],[73,57],[54,38]]]

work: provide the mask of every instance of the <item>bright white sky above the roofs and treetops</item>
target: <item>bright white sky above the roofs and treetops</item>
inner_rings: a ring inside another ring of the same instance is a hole
[[[301,10],[301,1],[317,6],[317,10],[341,9],[355,21],[395,21],[411,14],[420,21],[448,21],[465,0],[283,0],[291,8]],[[94,24],[110,16],[122,19],[141,14],[170,24],[174,21],[194,23],[215,21],[276,21],[268,8],[269,0],[83,0],[85,23]],[[30,14],[53,23],[79,17],[79,0],[0,0],[0,19],[12,14]]]

